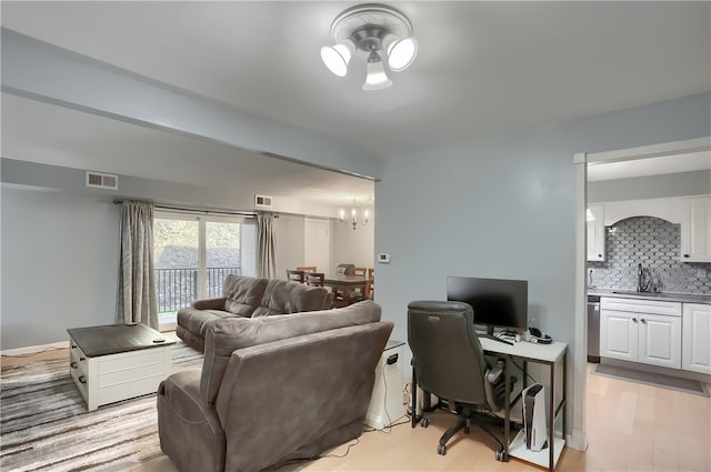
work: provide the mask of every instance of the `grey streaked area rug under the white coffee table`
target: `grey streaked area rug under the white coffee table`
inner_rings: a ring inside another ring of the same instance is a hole
[[[202,354],[173,347],[173,372],[200,368]],[[88,412],[68,360],[2,368],[0,470],[120,470],[160,454],[156,394]]]

